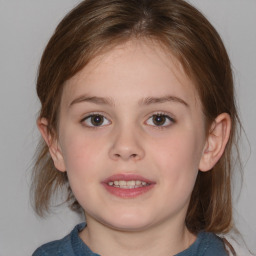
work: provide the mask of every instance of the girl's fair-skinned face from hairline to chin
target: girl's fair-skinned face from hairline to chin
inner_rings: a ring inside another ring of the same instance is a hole
[[[55,164],[67,171],[88,222],[124,230],[181,224],[204,126],[198,95],[177,60],[156,44],[132,41],[67,81]]]

